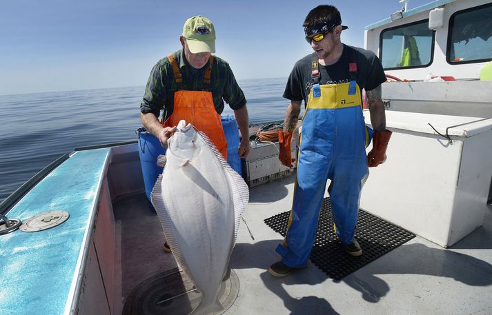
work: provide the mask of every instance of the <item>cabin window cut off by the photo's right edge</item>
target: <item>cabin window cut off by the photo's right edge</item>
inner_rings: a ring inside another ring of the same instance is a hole
[[[447,46],[446,60],[451,64],[492,60],[492,4],[451,15]]]

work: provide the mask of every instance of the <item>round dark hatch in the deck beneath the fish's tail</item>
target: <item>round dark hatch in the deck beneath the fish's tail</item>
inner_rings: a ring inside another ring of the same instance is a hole
[[[222,281],[219,289],[219,301],[224,307],[223,314],[237,298],[239,278],[234,270],[227,280]],[[197,291],[186,272],[168,270],[152,276],[133,289],[126,298],[122,315],[183,314],[188,315],[201,301]]]

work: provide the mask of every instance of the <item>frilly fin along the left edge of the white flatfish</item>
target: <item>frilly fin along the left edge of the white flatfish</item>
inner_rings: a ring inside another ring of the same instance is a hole
[[[165,170],[166,169],[164,169],[164,171]],[[152,205],[154,206],[155,212],[159,217],[159,221],[161,221],[166,241],[168,242],[168,245],[170,245],[170,247],[173,249],[173,256],[175,257],[177,263],[179,263],[181,268],[183,268],[184,272],[186,272],[190,280],[195,283],[193,274],[190,272],[190,267],[188,267],[188,264],[186,263],[186,260],[184,259],[181,252],[181,248],[178,246],[175,234],[173,233],[173,225],[171,224],[172,221],[170,219],[169,212],[166,209],[164,197],[162,196],[162,177],[162,175],[159,175],[159,177],[157,177],[154,188],[152,188],[152,192],[150,193],[150,201],[152,201]]]

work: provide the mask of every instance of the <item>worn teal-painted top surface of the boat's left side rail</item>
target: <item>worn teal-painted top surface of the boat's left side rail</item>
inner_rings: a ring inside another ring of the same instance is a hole
[[[70,312],[108,152],[75,152],[7,213],[26,221],[63,210],[70,218],[49,230],[0,236],[0,314]]]

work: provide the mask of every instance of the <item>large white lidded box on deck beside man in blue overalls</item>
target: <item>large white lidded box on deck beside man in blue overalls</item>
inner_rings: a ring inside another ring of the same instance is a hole
[[[368,110],[364,116],[370,123]],[[491,189],[492,119],[386,111],[386,127],[393,131],[388,159],[370,167],[360,207],[443,247],[480,227]]]

